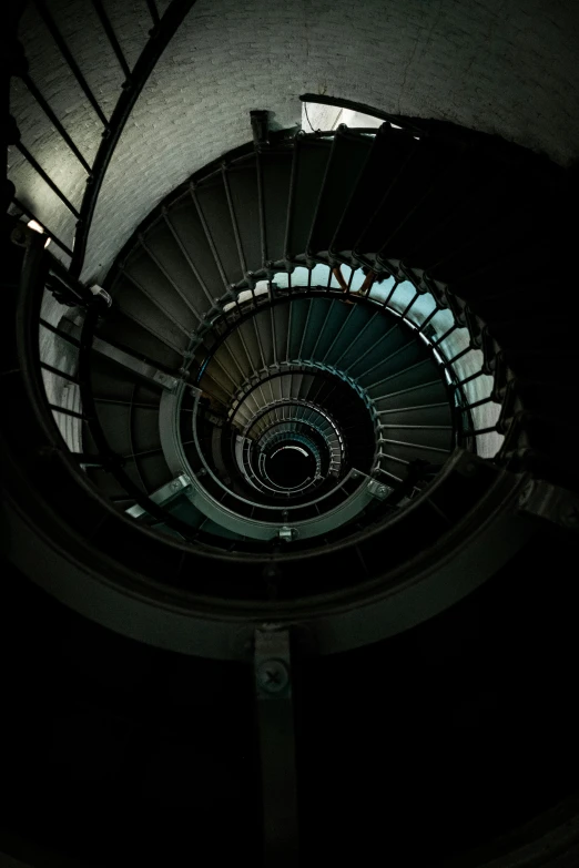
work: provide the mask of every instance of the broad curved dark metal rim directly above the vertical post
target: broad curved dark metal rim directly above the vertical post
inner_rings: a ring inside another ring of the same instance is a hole
[[[95,552],[90,540],[77,537],[74,545],[62,548],[62,533],[72,543],[70,528],[59,530],[57,523],[47,532],[48,517],[43,517],[41,530],[30,514],[16,509],[12,499],[7,531],[13,563],[32,581],[84,616],[139,641],[185,654],[248,661],[253,631],[274,621],[295,625],[296,634],[305,640],[303,653],[327,654],[359,647],[426,621],[495,574],[534,532],[532,521],[517,512],[527,482],[528,477],[498,471],[482,501],[434,550],[418,553],[374,582],[358,584],[349,602],[347,596],[333,595],[297,609],[254,603],[247,610],[234,601],[225,611],[217,601],[207,609],[206,599],[195,601],[166,584],[141,580],[135,585],[136,576],[129,581],[122,565],[104,552]],[[27,491],[20,494],[26,497]],[[109,510],[113,513],[112,507]],[[116,513],[114,519],[130,522]],[[145,534],[143,542],[151,533],[145,528],[140,532]],[[181,548],[172,539],[164,547]],[[294,560],[290,555],[290,563]],[[50,569],[38,570],[39,563]],[[298,563],[293,569],[299,569]],[[103,575],[108,576],[105,582]]]

